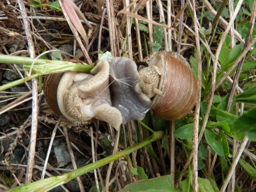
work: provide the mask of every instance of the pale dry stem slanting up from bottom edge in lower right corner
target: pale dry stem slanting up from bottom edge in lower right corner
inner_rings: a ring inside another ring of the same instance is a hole
[[[240,159],[240,157],[241,157],[241,155],[244,151],[244,148],[245,148],[247,142],[248,142],[248,137],[247,137],[247,135],[245,135],[244,138],[243,138],[243,141],[242,141],[242,143],[239,147],[238,153],[237,153],[236,157],[233,159],[233,162],[232,162],[232,164],[229,168],[229,171],[227,173],[225,181],[223,182],[223,185],[221,186],[220,192],[225,191],[233,172],[236,170],[236,166],[237,166],[238,161],[239,161],[239,159]]]

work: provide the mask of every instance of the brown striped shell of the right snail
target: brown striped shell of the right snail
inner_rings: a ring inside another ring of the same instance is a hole
[[[176,120],[187,115],[196,103],[197,80],[188,62],[179,54],[159,51],[147,56],[148,66],[156,65],[162,72],[158,89],[165,96],[155,95],[151,110],[166,120]]]

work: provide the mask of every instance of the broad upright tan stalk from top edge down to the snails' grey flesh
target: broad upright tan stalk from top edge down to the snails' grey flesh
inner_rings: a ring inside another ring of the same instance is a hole
[[[115,25],[115,13],[113,1],[106,0],[106,12],[108,13],[108,21],[109,21],[109,31],[110,31],[110,48],[113,56],[119,56],[119,50],[117,50],[117,42],[116,39],[116,25]],[[108,187],[106,187],[108,188]]]

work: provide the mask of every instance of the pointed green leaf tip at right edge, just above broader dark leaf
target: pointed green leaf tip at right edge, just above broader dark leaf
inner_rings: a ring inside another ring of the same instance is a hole
[[[256,84],[254,84],[251,88],[247,89],[243,93],[235,96],[234,101],[248,104],[256,104]]]

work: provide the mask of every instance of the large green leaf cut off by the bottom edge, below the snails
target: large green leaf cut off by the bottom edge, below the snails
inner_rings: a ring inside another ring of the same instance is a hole
[[[158,177],[154,179],[141,180],[126,185],[119,192],[178,192],[172,185],[172,175]]]

